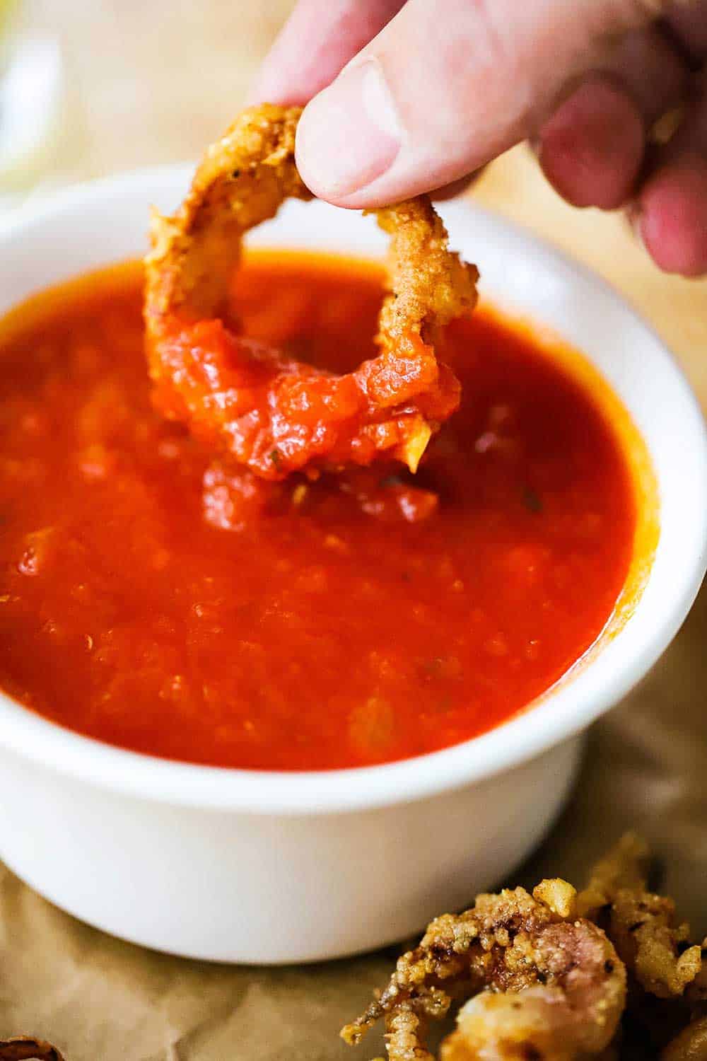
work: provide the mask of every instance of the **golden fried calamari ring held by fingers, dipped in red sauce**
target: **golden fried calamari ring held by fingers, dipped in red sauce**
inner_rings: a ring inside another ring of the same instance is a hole
[[[299,115],[272,105],[243,111],[207,152],[177,213],[153,214],[145,324],[155,399],[266,479],[378,455],[414,471],[459,404],[458,381],[432,343],[473,309],[478,276],[447,249],[426,196],[375,211],[390,234],[376,358],[335,376],[227,327],[244,233],[284,199],[312,197],[295,164]]]

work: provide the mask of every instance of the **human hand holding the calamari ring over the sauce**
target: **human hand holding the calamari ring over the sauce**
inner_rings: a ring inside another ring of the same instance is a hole
[[[458,187],[530,139],[569,203],[628,207],[657,264],[696,276],[705,59],[707,0],[300,0],[253,98],[311,101],[297,164],[338,206]]]

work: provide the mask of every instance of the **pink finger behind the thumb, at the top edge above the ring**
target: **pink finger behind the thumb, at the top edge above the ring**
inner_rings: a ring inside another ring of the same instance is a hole
[[[249,92],[253,103],[307,103],[401,10],[405,0],[300,0]]]

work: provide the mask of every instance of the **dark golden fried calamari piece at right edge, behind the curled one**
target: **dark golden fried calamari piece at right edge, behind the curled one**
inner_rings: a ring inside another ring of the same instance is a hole
[[[682,995],[701,981],[702,951],[689,946],[689,925],[672,899],[647,890],[648,847],[629,833],[597,864],[578,909],[601,924],[643,991],[659,998]]]

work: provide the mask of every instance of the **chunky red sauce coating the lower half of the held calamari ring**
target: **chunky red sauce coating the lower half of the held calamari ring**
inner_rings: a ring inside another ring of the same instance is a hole
[[[341,376],[220,320],[172,320],[157,346],[151,360],[160,412],[269,480],[369,465],[381,454],[417,466],[428,424],[459,405],[457,379],[416,334]]]

